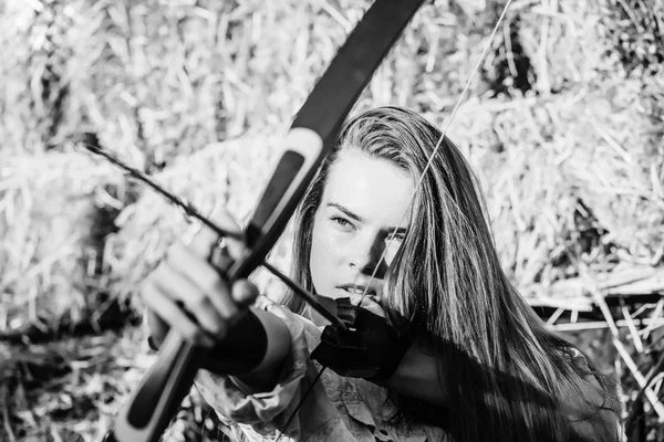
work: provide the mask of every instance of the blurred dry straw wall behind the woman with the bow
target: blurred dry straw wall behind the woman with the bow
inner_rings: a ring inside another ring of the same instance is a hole
[[[0,440],[102,439],[155,358],[138,284],[198,228],[80,143],[245,220],[367,3],[0,2]],[[502,6],[428,2],[357,108],[407,106],[444,127]],[[662,304],[598,314],[598,299],[664,288],[663,41],[661,0],[517,0],[448,133],[522,293],[595,312],[603,328],[570,336],[621,379],[623,418],[634,369],[649,376],[661,352]],[[272,260],[287,269],[288,241]],[[639,440],[661,436],[652,403],[639,407]],[[166,440],[222,439],[215,424],[194,394]]]

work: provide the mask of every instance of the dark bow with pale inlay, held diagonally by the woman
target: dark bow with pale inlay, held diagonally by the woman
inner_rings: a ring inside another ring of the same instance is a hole
[[[286,150],[245,232],[247,253],[221,270],[230,282],[263,264],[347,113],[423,2],[376,0],[339,50],[286,138]],[[158,360],[121,409],[106,440],[158,441],[194,382],[196,361],[205,356],[205,349],[170,330]]]

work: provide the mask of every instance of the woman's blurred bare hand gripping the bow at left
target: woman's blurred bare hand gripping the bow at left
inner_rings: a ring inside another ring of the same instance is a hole
[[[228,213],[216,215],[214,221],[240,233]],[[231,288],[225,274],[208,262],[217,241],[217,234],[204,227],[189,245],[172,245],[166,259],[145,280],[141,295],[155,345],[159,346],[173,327],[186,339],[211,347],[258,296],[256,286],[247,280],[236,282]],[[228,255],[220,260],[238,259],[243,245],[231,239],[225,241]]]

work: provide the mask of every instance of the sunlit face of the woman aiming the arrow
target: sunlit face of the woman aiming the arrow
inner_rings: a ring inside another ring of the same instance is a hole
[[[347,297],[365,288],[381,295],[408,228],[412,194],[413,178],[392,162],[360,150],[340,155],[314,215],[310,267],[319,295]]]

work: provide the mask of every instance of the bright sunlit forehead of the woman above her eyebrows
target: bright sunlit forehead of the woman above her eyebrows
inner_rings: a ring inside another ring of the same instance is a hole
[[[347,149],[332,166],[323,204],[338,203],[362,218],[396,225],[413,197],[412,175],[393,162]]]

